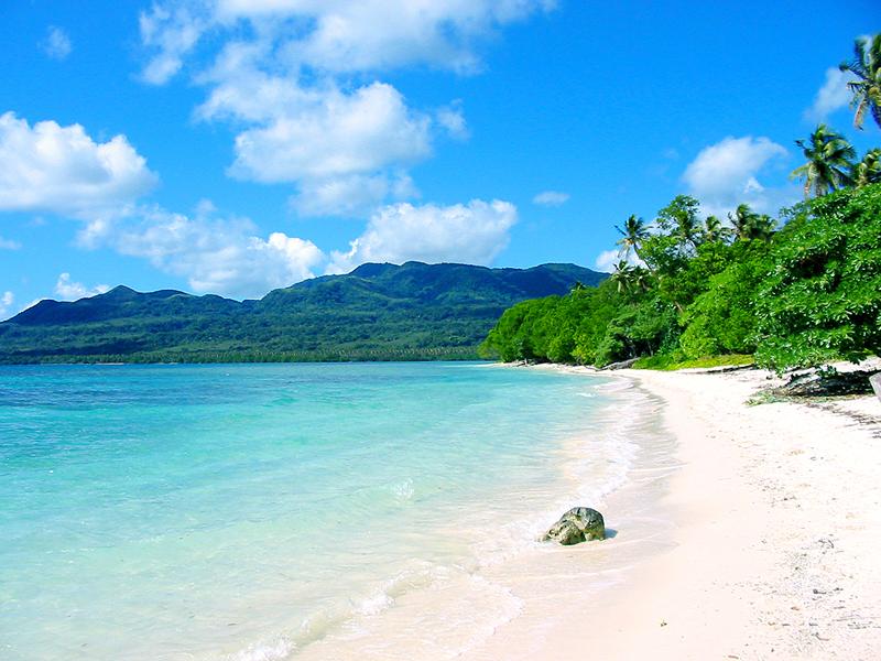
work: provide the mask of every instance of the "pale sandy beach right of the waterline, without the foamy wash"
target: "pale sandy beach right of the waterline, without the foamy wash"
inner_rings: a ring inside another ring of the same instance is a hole
[[[665,402],[682,466],[654,484],[672,525],[645,528],[654,552],[601,595],[567,567],[628,553],[630,530],[509,566],[493,579],[521,615],[460,658],[878,659],[881,403],[750,407],[763,372],[619,373]],[[607,519],[627,505],[610,498]]]

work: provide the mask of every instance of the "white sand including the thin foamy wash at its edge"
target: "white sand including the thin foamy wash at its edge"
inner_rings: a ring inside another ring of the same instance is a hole
[[[759,371],[616,375],[652,395],[628,427],[641,449],[626,486],[578,505],[617,534],[407,593],[296,658],[881,659],[881,402],[749,407]]]

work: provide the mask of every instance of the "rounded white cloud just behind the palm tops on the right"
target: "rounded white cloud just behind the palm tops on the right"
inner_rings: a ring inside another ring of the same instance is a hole
[[[759,176],[786,159],[784,147],[768,138],[728,137],[704,148],[683,174],[688,192],[708,214],[725,216],[740,203],[775,214],[798,199],[797,187],[765,187]]]

